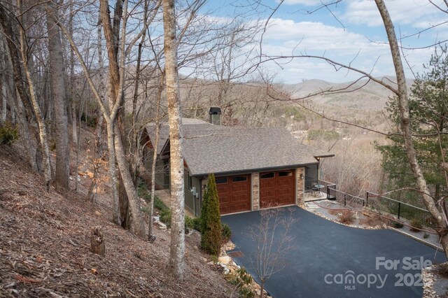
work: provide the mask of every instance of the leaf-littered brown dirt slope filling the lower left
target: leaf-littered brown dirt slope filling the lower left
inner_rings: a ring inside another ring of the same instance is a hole
[[[45,191],[25,166],[19,144],[0,146],[0,297],[230,297],[235,288],[186,237],[185,280],[169,274],[169,232],[148,243],[111,222],[107,194]],[[71,181],[73,184],[73,180]],[[71,185],[73,189],[73,185]],[[101,226],[106,255],[90,250],[90,228]]]

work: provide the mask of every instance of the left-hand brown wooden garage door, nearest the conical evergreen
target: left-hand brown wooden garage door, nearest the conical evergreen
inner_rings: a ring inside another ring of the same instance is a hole
[[[216,178],[221,214],[251,210],[251,177],[249,175]]]

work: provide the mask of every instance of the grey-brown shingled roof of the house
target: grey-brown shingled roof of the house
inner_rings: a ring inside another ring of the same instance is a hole
[[[162,125],[158,152],[168,135],[168,125]],[[332,156],[300,143],[281,127],[225,127],[184,120],[183,149],[192,176],[294,168]]]

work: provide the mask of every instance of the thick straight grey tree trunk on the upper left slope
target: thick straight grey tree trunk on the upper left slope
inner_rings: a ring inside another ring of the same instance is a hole
[[[50,60],[50,80],[55,113],[56,141],[56,190],[69,188],[70,150],[69,129],[67,121],[67,104],[64,82],[64,57],[57,20],[57,3],[52,0],[47,3],[48,57]],[[76,123],[76,122],[75,122]]]

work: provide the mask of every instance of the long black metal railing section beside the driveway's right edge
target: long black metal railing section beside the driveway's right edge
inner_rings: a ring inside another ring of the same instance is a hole
[[[398,220],[416,221],[425,227],[435,228],[435,222],[429,211],[413,206],[402,201],[397,201],[388,197],[367,192],[366,206],[378,212],[390,213],[395,215]]]

